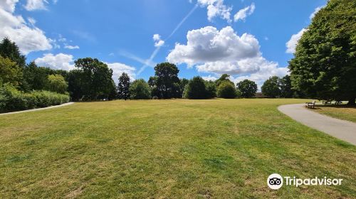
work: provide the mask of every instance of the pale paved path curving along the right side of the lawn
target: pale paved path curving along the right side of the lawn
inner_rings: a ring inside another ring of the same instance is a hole
[[[356,145],[356,123],[354,122],[318,114],[306,109],[304,104],[282,105],[278,107],[278,110],[308,127]]]

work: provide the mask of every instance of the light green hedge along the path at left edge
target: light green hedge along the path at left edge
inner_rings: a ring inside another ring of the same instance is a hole
[[[0,86],[0,112],[49,107],[69,102],[69,95],[46,90],[21,92],[11,85]]]

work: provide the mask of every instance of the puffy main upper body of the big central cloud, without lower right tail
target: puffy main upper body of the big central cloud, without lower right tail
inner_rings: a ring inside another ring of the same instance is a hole
[[[187,45],[176,43],[167,56],[172,63],[187,63],[189,66],[199,63],[236,62],[253,58],[260,54],[257,39],[247,33],[236,35],[230,26],[221,31],[206,26],[187,33]]]

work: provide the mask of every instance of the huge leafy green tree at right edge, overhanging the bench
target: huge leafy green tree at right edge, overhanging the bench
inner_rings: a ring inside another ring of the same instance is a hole
[[[315,14],[289,69],[296,90],[355,105],[356,1],[330,0]]]

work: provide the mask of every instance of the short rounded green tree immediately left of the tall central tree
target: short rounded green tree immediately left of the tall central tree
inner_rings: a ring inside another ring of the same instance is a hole
[[[143,79],[135,80],[130,86],[131,99],[151,99],[150,85]]]

